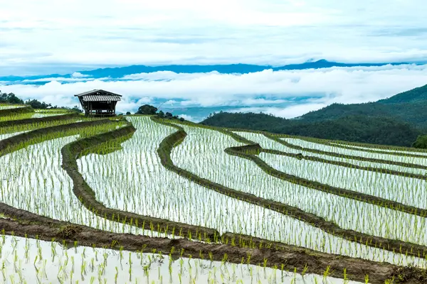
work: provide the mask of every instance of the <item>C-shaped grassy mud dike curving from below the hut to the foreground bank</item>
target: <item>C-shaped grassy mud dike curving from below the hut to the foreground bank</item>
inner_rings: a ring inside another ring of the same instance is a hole
[[[214,241],[220,236],[218,231],[209,229],[203,226],[193,226],[180,222],[173,222],[168,219],[160,219],[144,215],[126,212],[119,209],[112,209],[105,207],[104,204],[96,200],[95,192],[85,182],[83,176],[78,171],[77,158],[80,153],[88,151],[101,143],[111,141],[123,136],[131,136],[135,133],[136,129],[132,125],[122,127],[115,131],[102,133],[89,138],[84,138],[72,142],[61,149],[63,157],[62,168],[68,173],[73,180],[73,192],[82,204],[94,212],[98,216],[110,219],[115,222],[129,224],[130,226],[137,226],[142,229],[158,231],[173,236],[181,236],[189,239],[199,239],[200,241]],[[110,190],[115,190],[114,188]]]

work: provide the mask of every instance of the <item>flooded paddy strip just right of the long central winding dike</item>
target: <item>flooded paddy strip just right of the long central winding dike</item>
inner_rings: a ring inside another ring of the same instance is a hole
[[[251,161],[223,151],[231,146],[242,146],[243,143],[211,129],[191,126],[184,126],[184,129],[189,135],[172,152],[172,159],[180,168],[234,190],[290,204],[344,229],[414,244],[427,244],[426,219],[423,217],[273,178]]]

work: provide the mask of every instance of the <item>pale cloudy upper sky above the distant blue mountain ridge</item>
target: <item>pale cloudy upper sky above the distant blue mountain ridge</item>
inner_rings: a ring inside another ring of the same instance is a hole
[[[426,7],[424,0],[5,1],[0,70],[426,61]]]

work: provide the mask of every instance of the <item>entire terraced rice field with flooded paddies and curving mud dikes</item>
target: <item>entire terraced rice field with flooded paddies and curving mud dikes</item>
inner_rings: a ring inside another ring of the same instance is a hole
[[[427,283],[426,152],[2,110],[1,283]]]

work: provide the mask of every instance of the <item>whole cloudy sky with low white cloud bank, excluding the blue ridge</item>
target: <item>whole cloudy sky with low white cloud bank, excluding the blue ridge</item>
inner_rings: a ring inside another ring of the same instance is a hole
[[[0,7],[0,76],[138,64],[427,62],[424,0],[0,0]],[[100,88],[124,94],[122,111],[164,99],[171,106],[233,106],[290,118],[333,102],[369,102],[419,87],[427,84],[427,67],[157,72],[112,82],[79,82],[75,73],[74,79],[0,82],[0,89],[70,106],[71,94]]]

